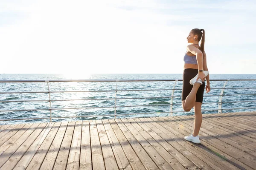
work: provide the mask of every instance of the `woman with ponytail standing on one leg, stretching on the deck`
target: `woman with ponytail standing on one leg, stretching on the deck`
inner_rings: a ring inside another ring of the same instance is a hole
[[[204,37],[204,29],[192,29],[187,37],[188,42],[192,44],[187,46],[184,56],[182,107],[184,111],[190,111],[193,107],[195,110],[194,131],[190,136],[185,136],[185,139],[197,144],[201,143],[198,133],[202,123],[201,106],[205,78],[207,80],[206,92],[208,93],[210,91],[206,53],[204,51]],[[201,44],[199,46],[200,40]]]

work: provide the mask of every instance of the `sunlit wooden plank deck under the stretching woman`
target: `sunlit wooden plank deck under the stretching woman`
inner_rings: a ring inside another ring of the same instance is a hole
[[[0,170],[255,170],[256,112],[0,125]]]

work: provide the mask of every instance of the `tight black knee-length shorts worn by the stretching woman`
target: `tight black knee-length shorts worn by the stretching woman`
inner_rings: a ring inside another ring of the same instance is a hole
[[[193,88],[193,85],[189,83],[189,81],[194,78],[198,74],[198,69],[193,69],[193,68],[186,68],[183,71],[183,88],[182,88],[182,101],[186,100],[186,97],[189,95],[190,91]],[[196,102],[203,102],[203,97],[204,97],[204,87],[205,83],[203,82],[202,85],[200,85],[198,92],[196,93]]]

